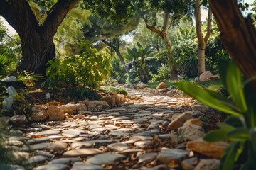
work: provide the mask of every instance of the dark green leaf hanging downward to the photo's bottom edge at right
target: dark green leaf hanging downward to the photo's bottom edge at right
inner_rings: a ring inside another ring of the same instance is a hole
[[[232,170],[235,164],[236,159],[238,158],[238,152],[240,142],[232,142],[223,154],[223,157],[220,159],[220,170]]]

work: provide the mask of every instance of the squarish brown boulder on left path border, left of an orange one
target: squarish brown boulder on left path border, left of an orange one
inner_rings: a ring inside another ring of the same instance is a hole
[[[40,105],[34,106],[33,108],[31,108],[31,110],[32,110],[31,120],[35,122],[43,121],[48,118],[48,114],[45,106],[40,106]]]

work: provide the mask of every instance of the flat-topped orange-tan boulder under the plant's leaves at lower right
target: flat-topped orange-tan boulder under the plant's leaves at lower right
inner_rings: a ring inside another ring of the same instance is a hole
[[[206,155],[207,157],[220,158],[223,155],[227,142],[206,142],[203,139],[192,140],[186,144],[188,150],[198,152]]]

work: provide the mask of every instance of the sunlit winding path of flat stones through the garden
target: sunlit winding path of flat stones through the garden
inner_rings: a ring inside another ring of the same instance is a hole
[[[195,119],[203,113],[177,109],[191,106],[191,98],[134,89],[129,95],[141,100],[13,130],[5,145],[18,149],[16,164],[23,164],[13,169],[194,169],[199,159],[185,141],[204,135]]]

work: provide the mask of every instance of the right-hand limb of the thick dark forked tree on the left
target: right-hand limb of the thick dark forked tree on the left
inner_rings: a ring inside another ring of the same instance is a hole
[[[42,37],[48,40],[52,39],[65,16],[67,16],[71,9],[75,8],[78,2],[79,0],[58,0],[41,26]],[[47,37],[44,35],[47,35]]]

